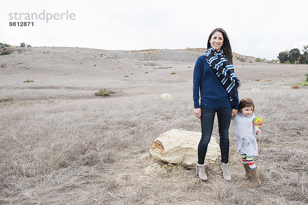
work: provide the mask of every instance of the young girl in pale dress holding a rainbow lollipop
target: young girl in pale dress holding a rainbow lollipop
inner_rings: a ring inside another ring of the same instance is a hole
[[[256,188],[261,183],[254,163],[254,156],[258,156],[254,132],[258,135],[261,134],[261,130],[253,126],[253,119],[256,117],[253,113],[255,113],[253,100],[245,98],[240,100],[238,114],[232,117],[235,122],[237,151],[241,154],[245,169],[242,178],[248,179],[249,175],[252,176],[252,182],[248,185],[250,188]]]

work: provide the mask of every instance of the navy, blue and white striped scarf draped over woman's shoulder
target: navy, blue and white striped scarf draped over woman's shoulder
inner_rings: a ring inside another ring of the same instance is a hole
[[[240,86],[240,80],[234,73],[234,66],[224,58],[223,50],[217,52],[210,47],[204,56],[209,67],[214,69],[219,81],[230,96],[231,107],[234,108],[239,101],[237,89]]]

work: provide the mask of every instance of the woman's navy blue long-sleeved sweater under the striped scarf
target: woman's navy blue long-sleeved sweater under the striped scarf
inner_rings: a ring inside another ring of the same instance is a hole
[[[201,103],[205,108],[230,108],[230,97],[227,91],[219,81],[216,72],[209,67],[205,56],[201,55],[197,58],[194,68],[194,88],[192,89],[192,97],[194,98],[195,108],[199,105],[199,89]],[[239,104],[234,109],[238,109]]]

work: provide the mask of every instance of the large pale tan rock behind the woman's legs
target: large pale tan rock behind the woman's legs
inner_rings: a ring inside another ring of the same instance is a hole
[[[171,129],[153,142],[150,153],[155,159],[192,168],[197,165],[200,138],[201,132]],[[212,136],[207,147],[206,165],[219,163],[220,156],[219,145],[216,143],[216,138]]]

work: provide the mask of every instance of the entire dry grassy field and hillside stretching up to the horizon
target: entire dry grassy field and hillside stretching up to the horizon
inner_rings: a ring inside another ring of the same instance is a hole
[[[240,98],[252,98],[264,120],[258,188],[241,179],[234,122],[231,181],[213,167],[206,182],[179,165],[145,171],[161,133],[201,131],[192,101],[201,54],[26,48],[1,56],[0,98],[10,100],[0,103],[0,204],[307,204],[308,89],[287,87],[305,80],[306,65],[235,60]],[[115,93],[94,95],[103,88]]]

